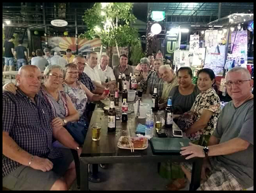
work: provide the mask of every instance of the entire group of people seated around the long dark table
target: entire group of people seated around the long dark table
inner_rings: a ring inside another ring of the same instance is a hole
[[[115,89],[119,73],[126,80],[134,74],[124,54],[113,70],[108,56],[102,56],[100,64],[97,53],[86,58],[78,55],[65,68],[47,66],[42,85],[40,69],[23,66],[17,85],[3,87],[3,186],[67,190],[72,185],[76,172],[69,149],[80,155],[82,143],[67,125],[84,121],[87,129],[88,104],[105,99],[104,88]],[[175,122],[192,142],[181,154],[187,159],[205,157],[200,190],[242,190],[253,185],[253,81],[246,69],[236,67],[226,74],[227,93],[233,101],[222,111],[210,69],[200,70],[194,85],[189,67],[174,73],[162,58],[149,55],[135,72],[146,94],[157,88],[160,109],[172,97]],[[169,190],[183,188],[191,180],[191,165],[176,167],[184,173],[182,178],[172,174]]]

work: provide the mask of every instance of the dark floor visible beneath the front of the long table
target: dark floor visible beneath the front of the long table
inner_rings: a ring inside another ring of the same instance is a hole
[[[103,181],[89,182],[90,190],[166,190],[170,182],[158,174],[157,163],[113,164],[108,169],[99,167],[99,173]],[[70,190],[78,190],[76,182]]]

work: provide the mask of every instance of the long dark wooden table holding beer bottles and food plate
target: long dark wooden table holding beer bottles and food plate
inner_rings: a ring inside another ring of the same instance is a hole
[[[143,102],[151,103],[151,96],[144,95]],[[109,101],[104,101],[108,104]],[[159,112],[161,113],[161,112]],[[184,156],[179,153],[161,154],[155,155],[152,152],[152,147],[149,142],[149,147],[145,150],[135,150],[134,153],[131,150],[119,149],[117,142],[120,136],[136,136],[135,131],[138,123],[144,123],[145,119],[137,119],[134,113],[128,114],[128,122],[122,123],[121,120],[117,120],[116,132],[107,132],[107,114],[103,110],[96,108],[93,112],[89,130],[86,135],[86,139],[83,145],[83,151],[80,156],[80,173],[81,173],[81,190],[88,190],[88,164],[95,163],[131,163],[131,162],[164,162],[171,160],[172,162],[192,162],[192,179],[190,184],[190,190],[196,190],[200,186],[200,176],[202,159],[193,158],[186,160]],[[99,141],[91,140],[91,125],[95,122],[101,123],[101,133]],[[176,124],[173,125],[175,129],[179,129]],[[168,135],[172,136],[172,131],[168,130]]]

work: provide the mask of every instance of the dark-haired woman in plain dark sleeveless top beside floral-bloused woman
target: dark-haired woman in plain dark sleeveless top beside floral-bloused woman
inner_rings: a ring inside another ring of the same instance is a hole
[[[172,97],[174,118],[189,111],[197,95],[201,92],[192,83],[193,75],[191,68],[181,67],[177,72],[177,77],[179,86],[174,87],[169,94]]]

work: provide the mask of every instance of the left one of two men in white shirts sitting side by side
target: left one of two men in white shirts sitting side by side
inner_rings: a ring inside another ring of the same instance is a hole
[[[101,80],[97,71],[97,60],[98,55],[96,52],[87,53],[86,55],[87,64],[84,68],[84,73],[90,77],[92,82],[96,85],[97,88],[105,88],[101,85]]]

